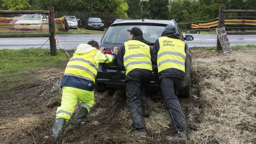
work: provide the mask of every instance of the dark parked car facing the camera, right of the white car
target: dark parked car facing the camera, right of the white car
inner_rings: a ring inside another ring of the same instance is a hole
[[[85,24],[86,29],[104,30],[104,20],[96,17],[89,17]]]

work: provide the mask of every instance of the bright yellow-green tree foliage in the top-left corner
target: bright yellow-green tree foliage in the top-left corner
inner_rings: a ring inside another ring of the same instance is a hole
[[[2,2],[2,7],[8,10],[27,10],[31,7],[28,0],[2,0]]]

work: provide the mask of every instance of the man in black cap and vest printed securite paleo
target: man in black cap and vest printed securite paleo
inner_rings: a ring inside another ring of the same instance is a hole
[[[150,42],[144,40],[139,28],[127,30],[129,41],[118,50],[117,62],[126,69],[127,105],[132,117],[134,134],[145,135],[144,116],[148,116],[148,104],[145,99],[145,86],[150,80],[152,62]]]

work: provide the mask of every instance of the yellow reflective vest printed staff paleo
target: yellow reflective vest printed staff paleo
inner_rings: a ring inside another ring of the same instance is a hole
[[[185,72],[185,42],[166,36],[158,38],[158,41],[160,45],[157,53],[158,73],[168,68],[176,68]]]

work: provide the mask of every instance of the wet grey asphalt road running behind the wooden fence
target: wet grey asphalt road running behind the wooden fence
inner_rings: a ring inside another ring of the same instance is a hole
[[[185,36],[186,34],[184,34]],[[194,36],[194,40],[187,41],[190,47],[206,47],[216,46],[216,34],[190,34]],[[66,49],[74,49],[81,43],[87,43],[89,40],[96,40],[100,42],[103,34],[57,34],[56,37],[60,41],[60,44]],[[229,35],[230,44],[234,45],[246,45],[256,44],[256,35]],[[48,38],[0,38],[0,50],[1,49],[21,49],[21,48],[39,48],[42,46]],[[59,44],[57,49],[61,48]],[[42,48],[50,48],[50,43],[46,42]]]

